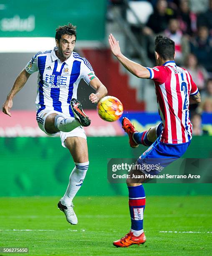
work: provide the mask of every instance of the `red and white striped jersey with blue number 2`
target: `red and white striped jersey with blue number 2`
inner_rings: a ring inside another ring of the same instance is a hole
[[[189,96],[198,93],[197,85],[189,72],[176,66],[174,61],[147,69],[155,84],[159,115],[164,126],[160,141],[170,144],[190,141]]]

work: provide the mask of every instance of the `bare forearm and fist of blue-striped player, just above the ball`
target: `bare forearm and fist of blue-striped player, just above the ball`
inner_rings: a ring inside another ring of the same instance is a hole
[[[107,95],[107,88],[97,77],[91,80],[89,84],[94,90],[96,90],[96,93],[91,93],[89,95],[89,100],[91,100],[92,103],[97,103],[101,98]]]

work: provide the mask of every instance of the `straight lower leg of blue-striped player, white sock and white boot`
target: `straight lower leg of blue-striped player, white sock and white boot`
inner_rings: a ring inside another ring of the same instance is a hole
[[[66,147],[71,152],[75,167],[69,177],[68,187],[65,195],[58,202],[58,208],[66,215],[66,220],[71,224],[77,224],[78,220],[73,211],[73,198],[83,184],[83,180],[88,170],[88,146],[85,138],[67,137]]]

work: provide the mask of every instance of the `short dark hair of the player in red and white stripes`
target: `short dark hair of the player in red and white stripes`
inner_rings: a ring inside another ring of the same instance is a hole
[[[164,60],[174,59],[174,51],[175,51],[174,41],[168,37],[156,36],[155,51]]]

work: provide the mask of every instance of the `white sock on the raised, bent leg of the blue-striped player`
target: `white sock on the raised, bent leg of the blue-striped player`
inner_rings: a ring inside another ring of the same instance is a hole
[[[63,115],[56,115],[55,117],[55,127],[66,133],[80,125],[81,124],[73,117],[65,118]]]

